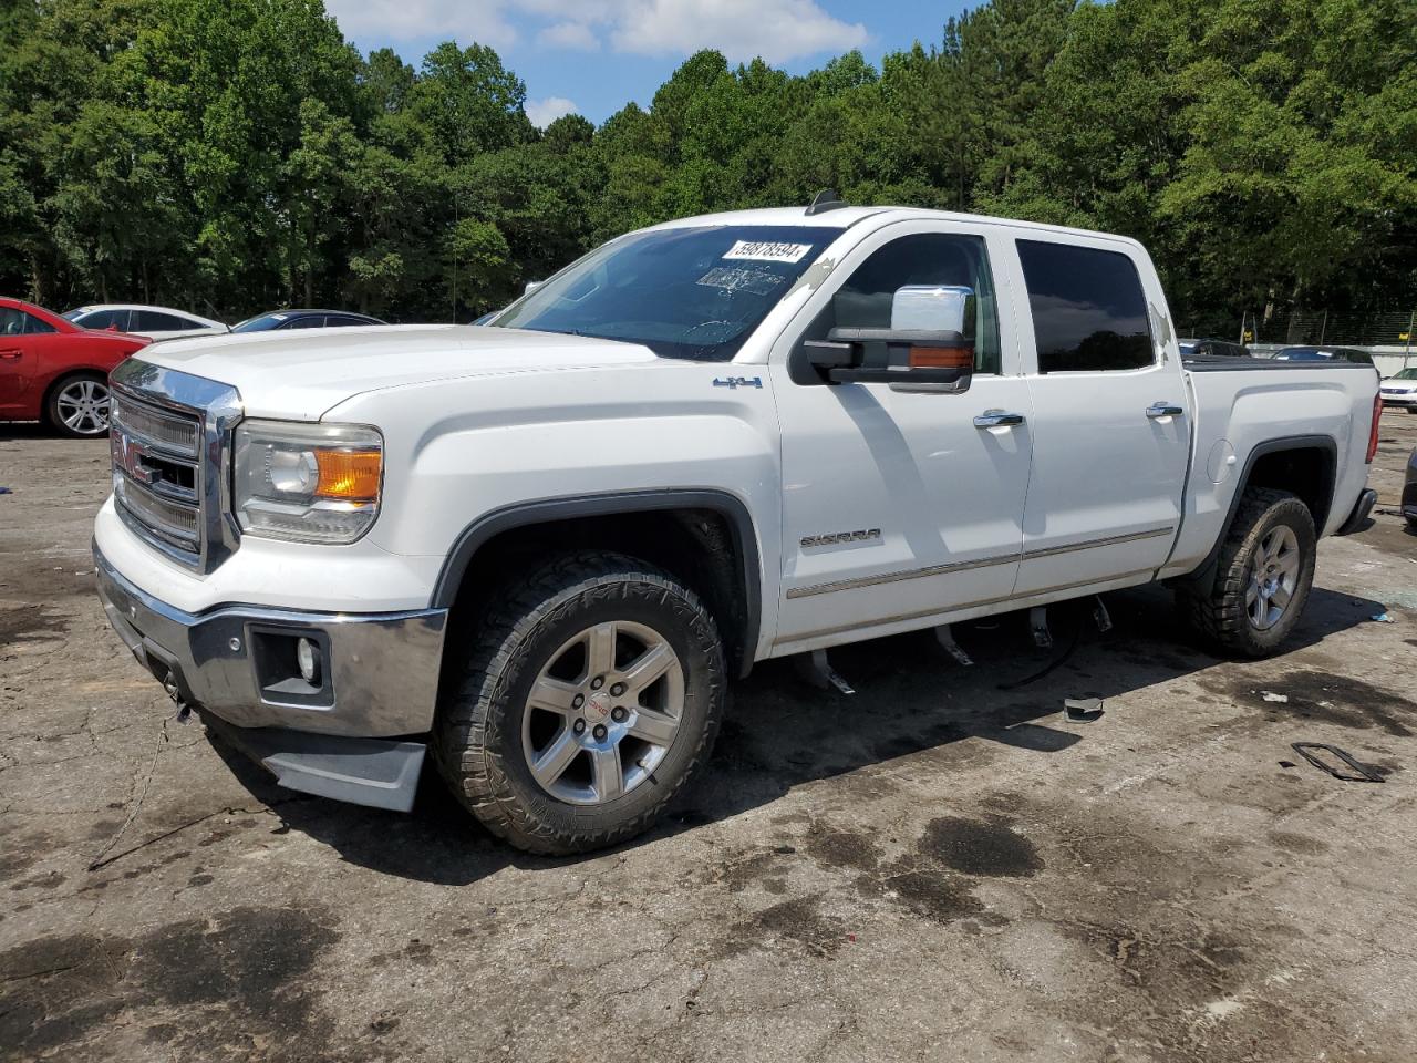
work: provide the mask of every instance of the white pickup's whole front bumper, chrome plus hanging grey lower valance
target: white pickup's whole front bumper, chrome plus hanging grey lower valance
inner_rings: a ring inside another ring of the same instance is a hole
[[[94,567],[103,611],[137,662],[282,785],[411,806],[424,744],[390,738],[432,729],[446,609],[347,614],[228,604],[190,614],[123,578],[96,544]],[[319,646],[315,686],[288,675],[299,638]]]

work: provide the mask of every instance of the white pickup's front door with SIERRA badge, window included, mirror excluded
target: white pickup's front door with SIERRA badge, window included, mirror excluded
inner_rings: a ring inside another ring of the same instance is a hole
[[[772,351],[782,431],[784,544],[775,653],[928,626],[1007,598],[1023,550],[1033,458],[1019,336],[999,308],[989,227],[890,225],[857,245]],[[794,383],[802,342],[893,322],[901,289],[969,288],[966,391]],[[999,418],[999,414],[1007,417]],[[976,421],[976,418],[979,418]],[[1002,420],[1002,422],[999,422]]]

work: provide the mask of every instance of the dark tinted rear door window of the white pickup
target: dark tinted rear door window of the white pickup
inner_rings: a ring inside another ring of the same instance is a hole
[[[1040,373],[1142,369],[1155,361],[1146,296],[1127,255],[1019,241]]]

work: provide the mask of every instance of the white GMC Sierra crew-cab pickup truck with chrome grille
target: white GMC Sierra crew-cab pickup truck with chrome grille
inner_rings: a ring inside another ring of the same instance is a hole
[[[1274,651],[1373,503],[1377,376],[1182,361],[1131,240],[674,221],[486,327],[177,340],[113,383],[113,626],[286,787],[625,839],[757,660],[1170,581]]]

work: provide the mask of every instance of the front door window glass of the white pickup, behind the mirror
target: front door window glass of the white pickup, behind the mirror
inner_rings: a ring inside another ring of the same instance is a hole
[[[917,286],[973,292],[972,313],[966,305],[965,334],[975,342],[975,373],[999,373],[998,303],[981,237],[917,232],[877,248],[836,291],[828,329],[910,327],[893,320],[901,315],[896,293]]]

